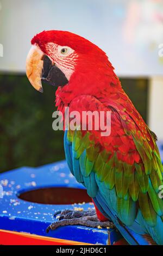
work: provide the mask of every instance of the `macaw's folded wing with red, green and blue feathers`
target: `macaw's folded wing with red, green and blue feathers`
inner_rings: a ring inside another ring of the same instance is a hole
[[[163,167],[156,136],[124,92],[116,97],[117,102],[111,101],[111,96],[103,102],[93,96],[82,101],[82,97],[74,102],[76,109],[84,109],[86,102],[85,108],[92,111],[95,102],[94,109],[107,107],[111,111],[111,134],[101,137],[100,131],[67,132],[83,175],[83,180],[79,175],[77,180],[88,187],[91,197],[99,190],[124,224],[131,225],[140,210],[146,223],[154,227],[157,216],[163,216],[163,200],[159,198]]]

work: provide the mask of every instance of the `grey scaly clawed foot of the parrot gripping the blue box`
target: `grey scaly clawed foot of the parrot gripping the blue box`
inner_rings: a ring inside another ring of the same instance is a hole
[[[114,224],[110,221],[99,221],[95,209],[88,211],[57,211],[54,216],[58,214],[61,214],[59,221],[49,225],[46,229],[47,233],[49,230],[55,230],[65,225],[83,225],[90,228],[114,228]]]

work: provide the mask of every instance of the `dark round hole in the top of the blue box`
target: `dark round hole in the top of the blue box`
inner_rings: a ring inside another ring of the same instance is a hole
[[[39,204],[74,204],[92,202],[86,190],[71,187],[48,187],[30,190],[18,195],[18,198]]]

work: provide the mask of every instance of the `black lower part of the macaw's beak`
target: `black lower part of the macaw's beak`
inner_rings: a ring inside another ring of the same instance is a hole
[[[51,84],[52,86],[65,86],[68,80],[65,74],[54,64],[48,56],[43,56],[42,81]]]

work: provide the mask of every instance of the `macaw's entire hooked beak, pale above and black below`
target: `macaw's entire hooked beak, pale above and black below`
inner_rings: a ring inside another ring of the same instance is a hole
[[[68,83],[65,74],[36,45],[33,45],[28,53],[26,74],[32,86],[41,93],[43,93],[41,80],[52,86],[64,86]]]

